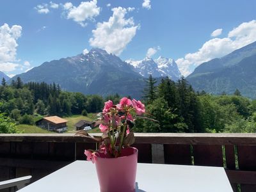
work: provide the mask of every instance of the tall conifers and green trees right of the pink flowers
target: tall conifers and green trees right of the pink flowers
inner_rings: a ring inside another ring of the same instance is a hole
[[[136,120],[136,132],[255,132],[256,100],[233,95],[211,95],[195,92],[181,77],[168,77],[157,84],[149,76],[143,100],[148,116]]]

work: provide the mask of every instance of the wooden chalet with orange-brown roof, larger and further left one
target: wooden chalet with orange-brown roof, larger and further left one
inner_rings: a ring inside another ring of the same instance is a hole
[[[36,126],[48,131],[64,132],[67,131],[67,120],[60,116],[47,116],[36,122]]]

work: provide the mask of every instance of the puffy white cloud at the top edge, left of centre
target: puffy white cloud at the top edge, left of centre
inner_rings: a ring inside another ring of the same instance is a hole
[[[82,27],[87,25],[86,20],[93,20],[100,13],[97,0],[81,2],[77,7],[72,3],[65,3],[63,7],[67,12],[67,19],[74,20]]]

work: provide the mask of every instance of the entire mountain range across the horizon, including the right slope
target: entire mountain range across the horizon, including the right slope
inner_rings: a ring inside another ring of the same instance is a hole
[[[202,63],[186,79],[194,90],[220,95],[238,89],[242,95],[256,98],[256,42],[236,51]],[[45,62],[18,76],[29,81],[58,83],[63,90],[106,96],[119,93],[140,98],[145,79],[152,74],[156,79],[170,77],[177,81],[181,74],[177,63],[170,58],[122,61],[102,49],[87,54]],[[0,72],[2,78],[3,73]],[[9,79],[8,76],[4,78]],[[11,79],[11,80],[12,80]],[[9,80],[9,82],[11,81]]]

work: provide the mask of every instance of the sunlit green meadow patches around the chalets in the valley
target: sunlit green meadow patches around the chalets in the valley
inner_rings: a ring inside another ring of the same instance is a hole
[[[68,131],[67,132],[75,133],[76,132],[75,124],[77,122],[79,122],[79,120],[93,121],[93,120],[95,120],[95,118],[97,118],[97,116],[95,113],[89,113],[88,116],[72,115],[72,116],[66,116],[63,118],[68,120],[68,122],[67,122]],[[17,129],[19,132],[22,132],[22,133],[54,133],[52,131],[47,131],[40,127],[36,127],[36,125],[21,124],[21,125],[17,125]],[[100,130],[99,130],[99,128],[95,128],[95,129],[90,130],[89,132],[100,132]]]

